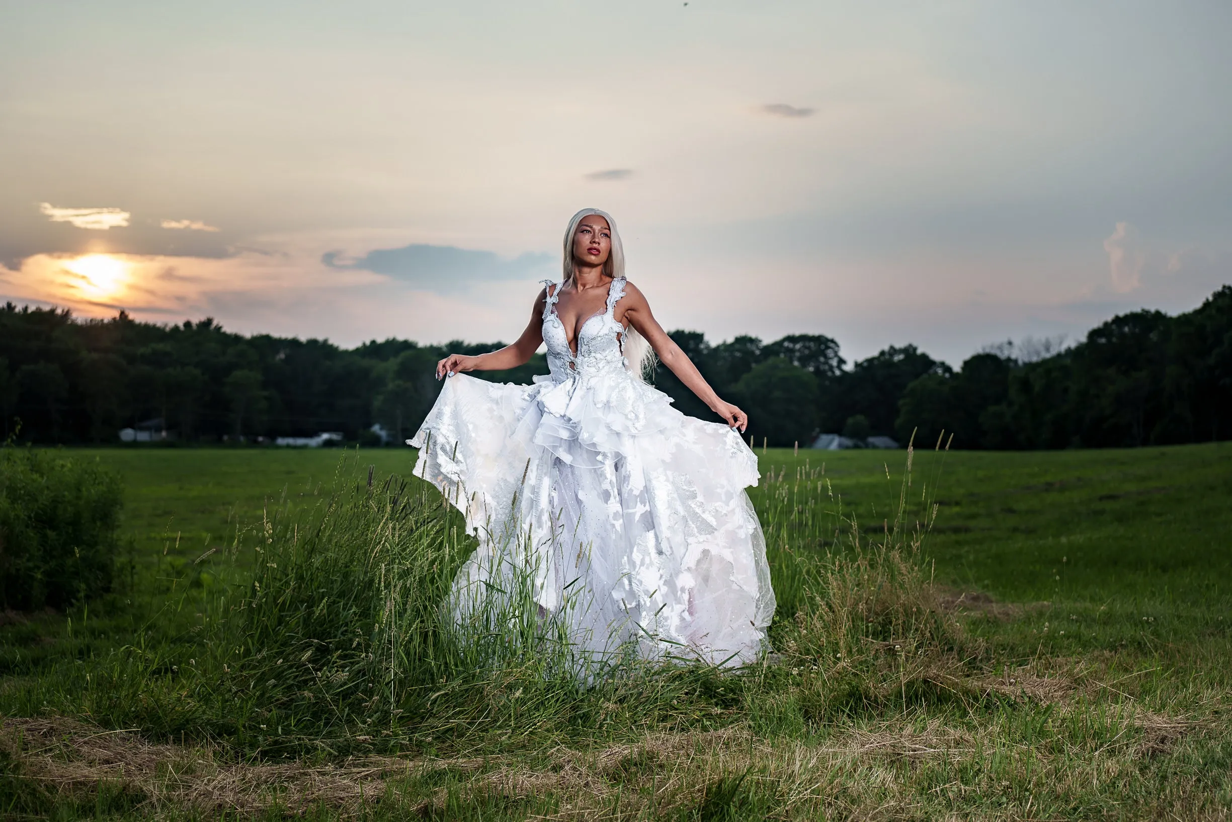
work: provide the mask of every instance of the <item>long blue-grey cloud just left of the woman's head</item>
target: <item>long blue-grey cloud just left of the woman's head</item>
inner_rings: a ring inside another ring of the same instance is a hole
[[[476,282],[530,280],[553,274],[556,259],[526,253],[505,260],[492,251],[414,243],[394,249],[375,249],[359,259],[329,251],[320,261],[331,269],[383,274],[421,291],[456,293]]]

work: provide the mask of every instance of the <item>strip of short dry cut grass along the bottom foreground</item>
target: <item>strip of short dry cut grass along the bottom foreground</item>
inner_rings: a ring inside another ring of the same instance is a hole
[[[1079,690],[1073,684],[1034,688],[1048,679],[1026,677],[1016,693],[1055,698]],[[1052,728],[1080,720],[1085,710],[1066,698],[1052,707]],[[1057,797],[1080,804],[1093,795],[1090,787],[1098,795],[1141,780],[1152,759],[1216,731],[1210,721],[1129,709],[1105,741],[1050,733],[1031,742],[1004,721],[910,711],[804,739],[765,738],[742,723],[535,753],[271,764],[229,762],[211,746],[152,743],[132,731],[47,717],[5,720],[0,748],[25,779],[52,791],[89,794],[111,784],[139,797],[138,807],[153,815],[324,807],[354,817],[393,805],[440,817],[450,796],[462,795],[547,797],[551,807],[526,816],[554,820],[724,818],[703,813],[716,802],[739,812],[728,818],[1023,820],[1057,818]],[[1158,796],[1158,818],[1227,818],[1214,797],[1204,801],[1194,789],[1178,780],[1172,796]],[[986,794],[987,801],[972,802],[972,792]],[[1110,813],[1116,804],[1101,810]],[[1089,810],[1100,810],[1096,805]]]

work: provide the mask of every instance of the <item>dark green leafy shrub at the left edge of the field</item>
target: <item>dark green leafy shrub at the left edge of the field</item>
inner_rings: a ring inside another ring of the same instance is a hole
[[[120,477],[54,451],[0,447],[0,605],[64,608],[110,589]]]

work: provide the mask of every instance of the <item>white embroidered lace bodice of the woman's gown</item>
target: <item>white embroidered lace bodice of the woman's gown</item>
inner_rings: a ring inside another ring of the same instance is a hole
[[[569,349],[569,335],[556,313],[563,282],[543,280],[547,299],[543,304],[543,343],[547,345],[547,366],[552,382],[564,382],[575,376],[623,371],[622,350],[625,327],[616,322],[616,303],[625,296],[625,277],[616,277],[607,287],[607,307],[578,325],[578,352]]]

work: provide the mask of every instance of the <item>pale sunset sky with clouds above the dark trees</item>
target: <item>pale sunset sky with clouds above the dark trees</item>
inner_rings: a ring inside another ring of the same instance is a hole
[[[669,329],[1080,338],[1232,282],[1232,4],[0,0],[0,299],[510,340],[578,208]]]

